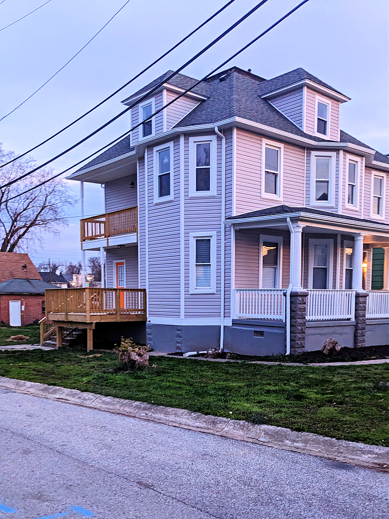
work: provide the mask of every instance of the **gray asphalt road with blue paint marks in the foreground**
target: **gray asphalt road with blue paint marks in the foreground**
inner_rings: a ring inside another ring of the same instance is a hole
[[[0,519],[387,519],[386,474],[0,388]]]

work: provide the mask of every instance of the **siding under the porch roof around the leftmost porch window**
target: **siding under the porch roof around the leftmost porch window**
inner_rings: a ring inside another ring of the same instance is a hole
[[[235,231],[235,288],[259,288],[259,235],[282,236],[280,288],[288,288],[290,235],[287,231],[275,229],[240,229]]]

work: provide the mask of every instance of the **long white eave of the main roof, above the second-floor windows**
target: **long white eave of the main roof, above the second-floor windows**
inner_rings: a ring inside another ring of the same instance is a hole
[[[85,169],[84,171],[80,171],[79,173],[72,173],[66,178],[68,180],[79,180],[82,182],[104,183],[104,180],[102,180],[102,175],[104,175],[107,172],[111,172],[115,169],[122,168],[123,166],[126,166],[130,163],[136,162],[136,160],[139,157],[144,155],[146,146],[152,146],[155,143],[160,143],[161,141],[168,141],[169,139],[172,139],[175,136],[182,133],[201,133],[204,131],[215,131],[216,126],[219,128],[219,130],[237,126],[243,130],[261,133],[262,135],[269,136],[273,139],[279,139],[285,142],[289,142],[291,144],[296,144],[298,146],[304,146],[307,148],[346,149],[351,153],[355,153],[357,155],[362,155],[366,157],[367,163],[369,164],[371,162],[371,159],[374,157],[374,154],[376,153],[374,149],[365,148],[363,146],[358,146],[356,144],[348,142],[314,141],[312,139],[309,139],[308,137],[295,135],[293,133],[289,133],[283,130],[278,130],[271,126],[263,125],[259,122],[254,122],[248,119],[244,119],[242,117],[230,117],[228,119],[223,119],[217,122],[207,123],[203,125],[174,127],[171,130],[164,132],[163,134],[152,135],[148,139],[144,139],[142,142],[138,143],[135,146],[135,150],[133,152],[108,160],[106,162],[103,162],[102,164],[92,166],[91,168]],[[381,163],[379,164],[381,165]],[[117,178],[119,178],[120,176],[126,176],[126,174],[118,174]]]

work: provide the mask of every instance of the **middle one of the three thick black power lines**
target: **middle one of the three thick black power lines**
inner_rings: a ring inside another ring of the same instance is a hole
[[[15,184],[15,182],[18,182],[19,180],[22,180],[24,179],[26,176],[29,176],[31,175],[32,173],[35,173],[35,171],[38,171],[39,169],[41,168],[44,168],[45,166],[47,166],[48,164],[50,164],[51,162],[53,162],[54,160],[62,157],[63,155],[65,155],[66,153],[72,151],[72,149],[76,148],[77,146],[79,146],[80,144],[84,143],[85,141],[87,141],[88,139],[90,139],[91,137],[93,137],[93,135],[95,135],[96,133],[99,133],[101,130],[103,130],[104,128],[106,128],[107,126],[109,126],[110,124],[112,124],[114,121],[116,121],[117,119],[119,119],[119,117],[121,117],[122,115],[126,114],[129,110],[131,110],[131,108],[133,108],[134,106],[136,106],[137,104],[139,104],[140,102],[142,102],[144,99],[146,99],[147,97],[149,97],[149,95],[153,92],[155,92],[156,90],[158,90],[162,85],[164,85],[166,82],[168,82],[172,77],[174,77],[176,74],[178,74],[180,71],[182,71],[183,69],[185,69],[188,65],[190,65],[190,63],[192,63],[193,61],[196,61],[197,58],[199,58],[202,54],[204,54],[204,52],[206,52],[207,50],[209,50],[211,47],[213,47],[217,42],[219,42],[220,39],[224,38],[224,36],[226,36],[228,33],[230,33],[233,29],[235,29],[235,27],[237,27],[240,23],[242,23],[246,18],[248,18],[249,16],[251,16],[257,9],[259,9],[263,4],[265,4],[266,2],[268,2],[268,0],[262,0],[262,2],[259,2],[259,4],[257,4],[255,7],[253,7],[253,9],[250,9],[248,12],[246,12],[245,15],[243,15],[237,22],[233,23],[232,25],[229,26],[228,29],[226,29],[223,33],[219,34],[219,36],[217,36],[210,44],[206,45],[202,50],[200,50],[197,54],[195,54],[195,56],[193,56],[192,58],[190,58],[186,63],[184,63],[183,65],[181,65],[177,70],[175,70],[172,74],[170,74],[168,77],[164,78],[162,81],[160,81],[160,83],[158,83],[155,87],[152,87],[150,90],[148,90],[147,92],[144,93],[144,95],[142,95],[140,98],[136,99],[136,101],[134,101],[132,104],[130,104],[127,108],[124,108],[124,110],[122,110],[119,114],[115,115],[115,117],[113,117],[112,119],[110,119],[109,121],[105,122],[105,124],[103,124],[102,126],[100,126],[98,129],[94,130],[92,133],[90,133],[89,135],[87,135],[86,137],[84,137],[84,139],[81,139],[80,141],[78,141],[76,144],[73,144],[73,146],[70,146],[69,148],[65,149],[64,152],[61,152],[59,153],[58,155],[56,155],[55,157],[51,158],[50,160],[47,160],[46,162],[44,162],[43,164],[41,164],[40,166],[38,166],[37,168],[34,168],[32,169],[31,171],[27,172],[27,173],[24,173],[23,175],[20,175],[18,176],[16,179],[13,179],[12,181],[8,182],[7,184],[3,184],[2,186],[0,186],[0,188],[4,188],[4,187],[8,187],[12,184]],[[198,84],[198,83],[197,83]],[[189,90],[188,90],[189,91]],[[158,112],[159,113],[159,112]]]

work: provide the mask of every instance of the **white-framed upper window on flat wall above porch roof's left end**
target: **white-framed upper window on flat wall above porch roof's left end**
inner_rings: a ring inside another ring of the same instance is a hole
[[[276,144],[276,145],[274,145]],[[262,198],[282,198],[283,145],[262,140]]]

